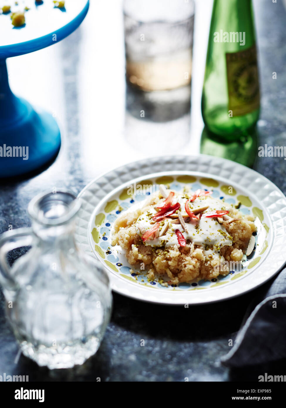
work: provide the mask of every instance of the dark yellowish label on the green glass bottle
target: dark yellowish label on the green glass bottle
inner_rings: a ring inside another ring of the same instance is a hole
[[[255,44],[246,50],[226,53],[228,110],[233,116],[259,108],[259,78]]]

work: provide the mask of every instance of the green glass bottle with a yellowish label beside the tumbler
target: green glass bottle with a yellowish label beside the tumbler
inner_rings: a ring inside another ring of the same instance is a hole
[[[260,95],[251,0],[214,0],[202,92],[206,128],[238,139],[259,118]]]

